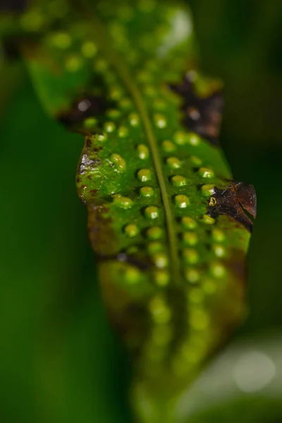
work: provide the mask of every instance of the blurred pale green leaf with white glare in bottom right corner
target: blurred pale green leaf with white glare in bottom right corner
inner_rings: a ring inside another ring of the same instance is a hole
[[[179,422],[280,422],[281,353],[279,332],[229,345],[180,399]]]

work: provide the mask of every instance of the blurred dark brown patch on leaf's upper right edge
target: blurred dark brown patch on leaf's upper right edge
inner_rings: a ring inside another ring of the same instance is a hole
[[[170,85],[171,90],[183,97],[183,125],[213,145],[219,145],[219,130],[223,111],[223,94],[217,89],[207,97],[196,94],[192,73],[187,73],[180,85]]]

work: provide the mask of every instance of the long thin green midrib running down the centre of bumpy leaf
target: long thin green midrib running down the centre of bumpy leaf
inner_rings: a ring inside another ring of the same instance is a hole
[[[164,180],[164,174],[162,171],[161,160],[159,159],[159,150],[157,147],[157,140],[154,136],[154,130],[152,128],[152,123],[149,119],[149,116],[146,111],[144,101],[140,90],[138,90],[137,85],[135,84],[133,78],[131,78],[128,67],[119,59],[116,51],[111,48],[110,42],[106,42],[108,38],[102,24],[99,23],[97,19],[94,19],[93,33],[95,42],[103,49],[104,53],[107,56],[109,62],[116,68],[118,74],[120,75],[123,83],[128,88],[137,111],[140,114],[140,120],[142,122],[145,135],[147,136],[149,148],[152,152],[152,161],[154,168],[157,174],[157,180],[159,183],[159,188],[161,190],[161,198],[164,205],[164,214],[166,219],[166,229],[168,234],[168,245],[169,245],[169,255],[171,262],[171,281],[174,284],[180,283],[180,263],[178,257],[178,242],[177,235],[174,226],[173,212],[171,209],[170,202],[168,200],[168,191],[166,189],[166,182]],[[110,41],[110,40],[109,40]]]

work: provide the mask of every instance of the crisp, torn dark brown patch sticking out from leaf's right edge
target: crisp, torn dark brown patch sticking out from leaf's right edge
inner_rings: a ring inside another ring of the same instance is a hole
[[[226,214],[252,232],[252,219],[257,214],[257,197],[253,185],[231,182],[227,188],[214,187],[207,214],[218,217]]]

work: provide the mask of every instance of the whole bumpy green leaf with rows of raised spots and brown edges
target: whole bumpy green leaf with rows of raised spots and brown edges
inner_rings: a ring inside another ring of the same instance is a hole
[[[133,359],[137,421],[178,422],[181,395],[245,314],[255,190],[231,182],[217,146],[221,84],[195,70],[186,6],[50,4],[20,17],[19,50],[47,113],[85,137],[78,195]]]

